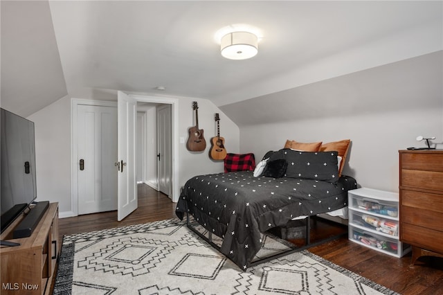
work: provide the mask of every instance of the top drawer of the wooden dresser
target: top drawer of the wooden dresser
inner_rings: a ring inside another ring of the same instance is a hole
[[[402,169],[443,172],[443,153],[401,152]]]

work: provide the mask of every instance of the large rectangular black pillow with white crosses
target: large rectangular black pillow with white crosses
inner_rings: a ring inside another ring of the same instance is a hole
[[[336,183],[338,181],[338,152],[285,151],[286,177],[314,179]]]

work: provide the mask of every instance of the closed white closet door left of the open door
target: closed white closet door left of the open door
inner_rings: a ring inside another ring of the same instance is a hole
[[[78,214],[117,209],[117,108],[78,105]]]

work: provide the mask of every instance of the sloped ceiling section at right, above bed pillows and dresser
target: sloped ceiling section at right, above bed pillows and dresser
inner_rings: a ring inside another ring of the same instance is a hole
[[[443,111],[442,81],[443,51],[437,51],[220,109],[239,126],[364,116],[417,106]]]

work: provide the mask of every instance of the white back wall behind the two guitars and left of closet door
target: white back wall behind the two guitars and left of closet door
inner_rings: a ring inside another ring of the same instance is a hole
[[[94,91],[91,96],[95,99]],[[214,114],[220,114],[226,146],[229,152],[239,152],[239,129],[213,102],[204,99],[179,99],[179,137],[184,139],[179,145],[179,186],[197,174],[223,171],[223,162],[212,161],[208,157],[210,137],[215,136]],[[207,141],[204,152],[190,152],[186,149],[188,128],[193,121],[192,101],[199,105],[199,127],[204,129]],[[60,217],[69,217],[71,203],[71,100],[64,97],[28,117],[35,123],[37,199],[59,202]]]

